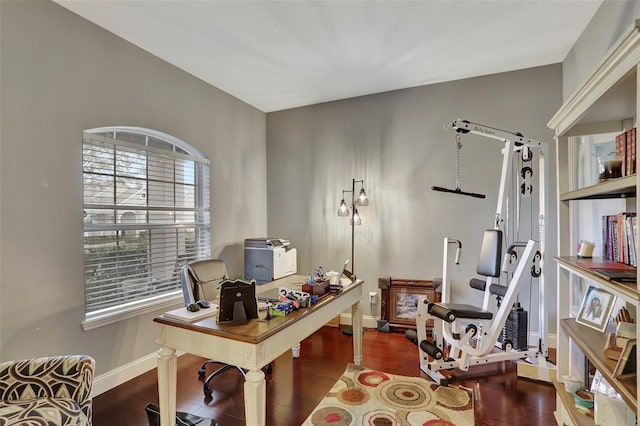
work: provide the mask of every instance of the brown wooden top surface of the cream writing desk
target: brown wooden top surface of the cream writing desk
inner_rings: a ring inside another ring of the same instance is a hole
[[[363,282],[364,281],[362,280],[356,280],[354,283],[345,285],[341,293],[329,293],[327,296],[322,297],[315,305],[311,305],[308,308],[300,308],[297,311],[290,313],[289,315],[285,315],[284,317],[273,317],[268,321],[254,318],[249,320],[249,322],[244,325],[232,325],[230,322],[218,323],[215,316],[207,317],[199,321],[187,322],[169,318],[164,315],[160,315],[159,317],[154,318],[153,321],[159,324],[184,328],[187,330],[220,336],[227,339],[258,344],[263,340],[271,337],[272,335],[278,333],[282,329],[290,326],[291,324],[300,321],[301,319],[317,311],[318,309],[322,309],[323,306],[326,306],[332,301],[345,296],[358,287],[361,287]],[[278,281],[260,286],[261,288],[259,290],[264,291],[268,290],[269,288],[273,288],[273,284],[277,285]],[[258,293],[260,292],[261,291],[259,291]]]

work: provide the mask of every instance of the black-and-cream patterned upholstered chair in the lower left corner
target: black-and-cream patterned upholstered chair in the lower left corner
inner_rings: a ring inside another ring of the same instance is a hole
[[[0,425],[91,425],[95,361],[66,355],[0,364]]]

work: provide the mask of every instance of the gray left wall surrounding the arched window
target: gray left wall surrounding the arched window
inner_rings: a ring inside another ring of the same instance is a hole
[[[266,234],[266,116],[52,2],[1,1],[0,360],[86,353],[97,374],[158,347],[157,314],[84,332],[83,129],[130,125],[211,159],[212,254]]]

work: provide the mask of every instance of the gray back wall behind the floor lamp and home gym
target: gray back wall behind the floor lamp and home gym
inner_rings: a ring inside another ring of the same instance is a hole
[[[450,236],[463,242],[463,261],[450,268],[453,300],[481,304],[481,293],[467,283],[476,276],[482,230],[493,227],[502,143],[475,135],[462,140],[462,189],[486,199],[434,192],[432,185],[455,187],[455,133],[443,126],[463,118],[549,142],[547,189],[554,191],[555,147],[546,123],[561,104],[561,81],[556,64],[267,114],[270,235],[292,240],[301,272],[339,268],[351,241],[348,219],[336,214],[341,190],[350,189],[352,178],[364,179],[370,205],[360,209],[355,261],[365,294],[377,291],[378,277],[441,276],[443,238]],[[555,193],[547,200],[553,214]],[[529,221],[523,208],[522,216],[537,238],[535,214]],[[555,217],[548,217],[547,232],[551,263]],[[554,269],[547,268],[550,330]],[[365,313],[379,314],[379,306],[363,304]],[[531,309],[537,331],[536,299]]]

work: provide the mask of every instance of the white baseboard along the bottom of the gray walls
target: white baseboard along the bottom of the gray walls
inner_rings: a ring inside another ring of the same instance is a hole
[[[340,314],[340,324],[350,325],[351,324],[351,314],[342,313]],[[362,326],[364,328],[378,328],[378,320],[371,315],[364,315],[362,317]],[[529,333],[529,341],[536,342],[538,340],[537,333]],[[549,348],[556,347],[556,335],[550,334],[548,339]],[[184,352],[177,351],[176,354],[178,356],[183,355]],[[128,364],[120,366],[114,370],[108,371],[104,374],[96,376],[93,379],[93,387],[91,390],[91,396],[95,397],[105,393],[108,390],[115,388],[139,375],[146,373],[149,370],[153,370],[157,367],[158,353],[153,352],[148,355],[143,356],[142,358],[138,358]]]

